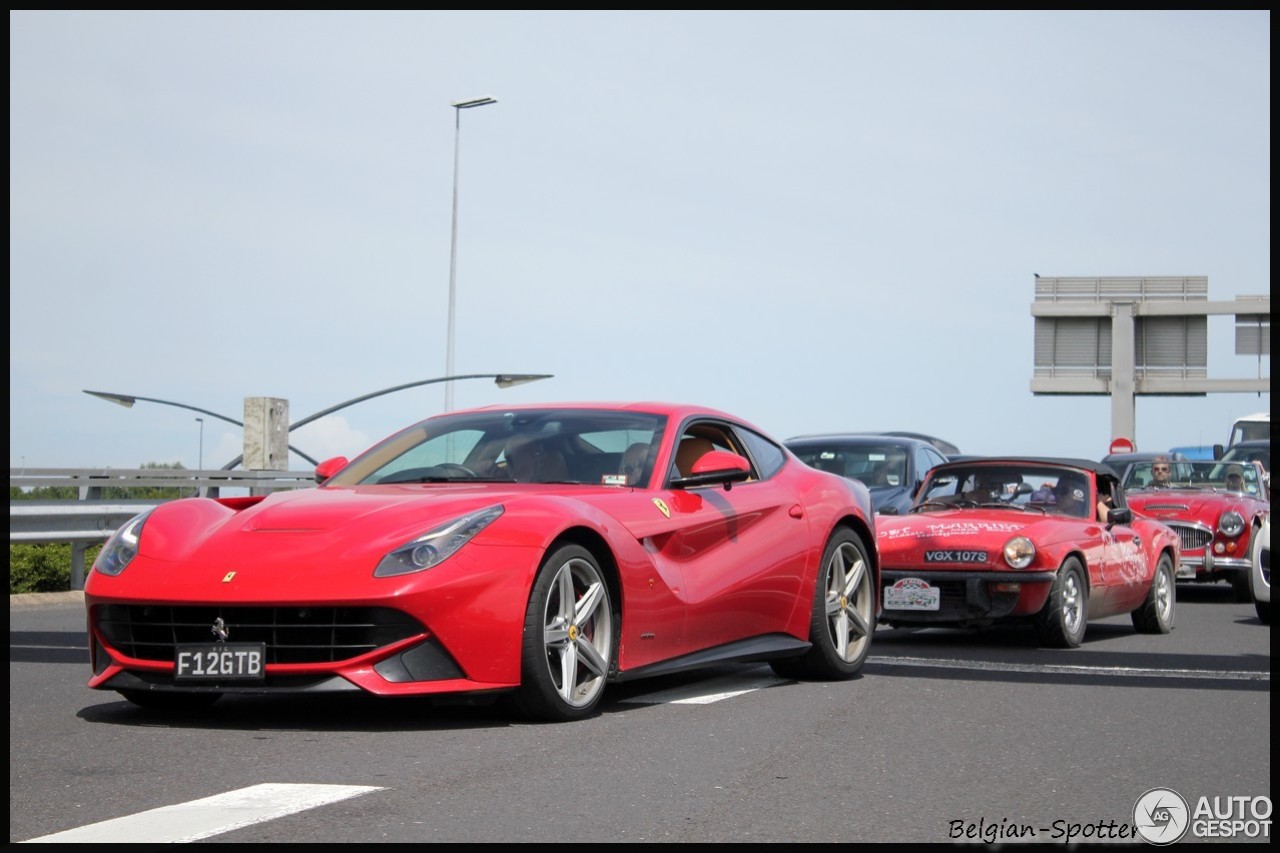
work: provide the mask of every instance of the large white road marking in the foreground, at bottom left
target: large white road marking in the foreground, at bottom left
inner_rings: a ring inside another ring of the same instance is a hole
[[[253,824],[337,803],[381,788],[367,785],[284,785],[268,783],[215,794],[189,803],[164,806],[128,817],[90,824],[65,833],[29,839],[32,844],[198,841]]]

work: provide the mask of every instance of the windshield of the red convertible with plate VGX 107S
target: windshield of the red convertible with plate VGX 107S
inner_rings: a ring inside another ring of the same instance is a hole
[[[929,471],[913,511],[946,507],[1002,507],[1088,517],[1089,471],[1033,462],[940,465]]]

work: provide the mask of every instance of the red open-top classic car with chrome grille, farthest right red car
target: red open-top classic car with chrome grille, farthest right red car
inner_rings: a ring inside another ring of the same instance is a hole
[[[1181,538],[1179,580],[1226,580],[1236,601],[1253,601],[1252,548],[1271,515],[1261,462],[1135,462],[1125,470],[1124,485],[1134,512],[1160,519]]]

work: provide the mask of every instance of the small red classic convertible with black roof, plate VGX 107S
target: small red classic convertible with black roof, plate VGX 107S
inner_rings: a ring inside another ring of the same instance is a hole
[[[938,465],[902,516],[878,516],[882,621],[986,628],[1028,621],[1074,648],[1085,624],[1132,613],[1174,628],[1178,537],[1125,506],[1116,473],[1073,459]]]

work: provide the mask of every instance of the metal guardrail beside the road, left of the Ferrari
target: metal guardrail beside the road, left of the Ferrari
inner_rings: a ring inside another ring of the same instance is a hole
[[[314,471],[191,471],[183,469],[10,467],[9,489],[70,487],[67,501],[10,500],[9,543],[69,542],[72,589],[84,588],[84,551],[106,542],[138,512],[163,503],[156,500],[105,500],[108,488],[177,488],[186,497],[219,497],[224,492],[268,494],[315,485]],[[230,497],[230,496],[228,496]]]

